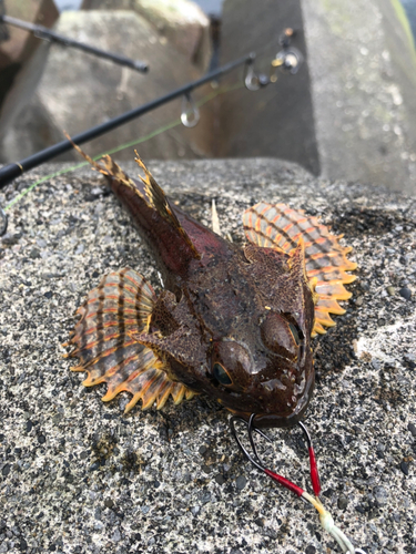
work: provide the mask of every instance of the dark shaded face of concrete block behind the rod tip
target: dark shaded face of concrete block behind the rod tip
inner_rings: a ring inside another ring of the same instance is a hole
[[[226,63],[251,51],[266,48],[256,71],[268,74],[277,51],[280,33],[287,27],[302,29],[298,0],[263,0],[262,9],[251,0],[225,0],[222,16],[221,62]],[[307,57],[304,33],[294,45]],[[240,83],[236,70],[224,82]],[[308,64],[296,75],[278,74],[276,84],[257,92],[237,89],[225,94],[221,105],[222,133],[216,154],[226,156],[277,156],[297,162],[314,174],[319,173]]]

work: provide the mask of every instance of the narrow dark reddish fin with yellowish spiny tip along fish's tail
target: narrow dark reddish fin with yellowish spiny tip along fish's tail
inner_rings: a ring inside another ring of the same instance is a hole
[[[172,227],[174,227],[180,235],[183,237],[187,246],[191,248],[193,255],[195,258],[200,259],[201,255],[196,250],[194,244],[192,243],[191,238],[189,237],[185,229],[182,227],[180,224],[175,213],[172,209],[172,206],[169,203],[169,199],[166,195],[164,194],[163,189],[158,185],[155,178],[153,175],[150,173],[148,167],[144,165],[142,158],[139,156],[138,152],[135,151],[135,162],[143,170],[144,172],[144,177],[140,176],[141,181],[144,184],[144,189],[148,195],[149,199],[149,205],[156,209],[159,214],[166,220],[169,222]]]

